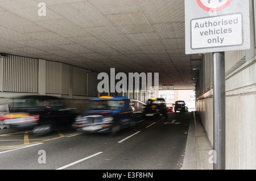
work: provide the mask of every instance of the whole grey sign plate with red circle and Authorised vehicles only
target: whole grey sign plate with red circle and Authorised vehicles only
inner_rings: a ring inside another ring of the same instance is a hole
[[[185,0],[185,53],[250,49],[249,0]]]

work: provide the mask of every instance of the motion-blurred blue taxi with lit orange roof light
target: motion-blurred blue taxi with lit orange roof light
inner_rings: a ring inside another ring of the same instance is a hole
[[[84,114],[76,118],[73,127],[86,133],[117,134],[121,129],[133,127],[133,109],[125,96],[101,96],[90,101]]]

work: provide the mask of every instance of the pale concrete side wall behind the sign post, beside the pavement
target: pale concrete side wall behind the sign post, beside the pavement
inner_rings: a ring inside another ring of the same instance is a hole
[[[256,58],[226,77],[226,169],[256,169]],[[212,90],[197,97],[205,131],[213,146]]]

